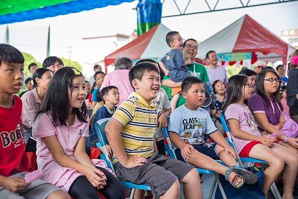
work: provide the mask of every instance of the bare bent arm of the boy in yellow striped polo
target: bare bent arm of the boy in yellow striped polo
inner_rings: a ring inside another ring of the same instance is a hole
[[[134,168],[143,165],[145,162],[147,162],[147,159],[136,156],[131,156],[130,158],[128,158],[128,156],[126,155],[120,136],[122,128],[123,125],[114,118],[111,118],[111,120],[105,127],[105,133],[114,154],[116,155],[120,164],[125,168]]]

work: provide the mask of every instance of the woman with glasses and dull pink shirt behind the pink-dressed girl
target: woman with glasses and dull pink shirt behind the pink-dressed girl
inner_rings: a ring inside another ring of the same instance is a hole
[[[53,71],[50,69],[43,67],[37,68],[32,77],[34,89],[26,92],[21,97],[21,100],[23,102],[22,120],[24,127],[26,152],[36,152],[36,141],[31,137],[32,127],[35,123],[35,114],[41,107],[53,74]]]

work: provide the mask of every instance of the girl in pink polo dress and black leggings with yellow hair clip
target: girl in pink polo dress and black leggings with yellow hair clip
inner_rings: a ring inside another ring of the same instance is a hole
[[[84,76],[74,67],[54,74],[32,129],[42,178],[75,199],[124,199],[124,187],[104,160],[85,151],[88,115]]]

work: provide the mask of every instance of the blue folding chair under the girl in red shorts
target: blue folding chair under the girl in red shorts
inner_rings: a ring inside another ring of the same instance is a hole
[[[221,119],[221,122],[222,122],[222,125],[223,125],[223,128],[224,128],[224,132],[227,134],[227,137],[228,137],[228,142],[229,142],[229,144],[235,149],[235,151],[236,151],[236,157],[237,157],[237,161],[238,161],[238,163],[242,166],[242,162],[253,162],[253,163],[263,163],[263,164],[267,164],[267,162],[265,162],[265,161],[262,161],[262,160],[258,160],[258,159],[255,159],[255,158],[250,158],[250,157],[248,157],[248,158],[246,158],[246,157],[239,157],[239,154],[238,154],[238,151],[236,150],[236,146],[235,146],[235,144],[234,144],[234,142],[233,142],[233,139],[232,139],[232,136],[231,136],[231,133],[229,132],[229,128],[228,128],[228,126],[227,126],[227,123],[226,123],[226,120],[225,120],[225,118],[224,118],[224,114],[223,113],[221,113],[220,114],[220,119]],[[262,170],[264,171],[264,169],[263,169],[263,167],[261,167],[262,168]],[[281,197],[281,195],[280,195],[280,193],[279,193],[279,191],[278,191],[278,189],[277,189],[277,187],[276,187],[276,184],[275,183],[273,183],[272,185],[271,185],[271,191],[272,191],[272,193],[273,193],[273,195],[274,195],[274,198],[276,198],[276,199],[281,199],[282,197]]]

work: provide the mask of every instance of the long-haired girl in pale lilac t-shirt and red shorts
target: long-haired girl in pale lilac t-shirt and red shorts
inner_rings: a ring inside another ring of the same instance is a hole
[[[247,106],[247,99],[252,93],[248,82],[245,75],[234,75],[227,82],[223,112],[232,139],[240,157],[256,158],[268,163],[262,185],[266,199],[270,186],[283,171],[283,199],[294,199],[293,188],[298,172],[298,155],[275,143],[277,137],[258,131],[254,117]]]

